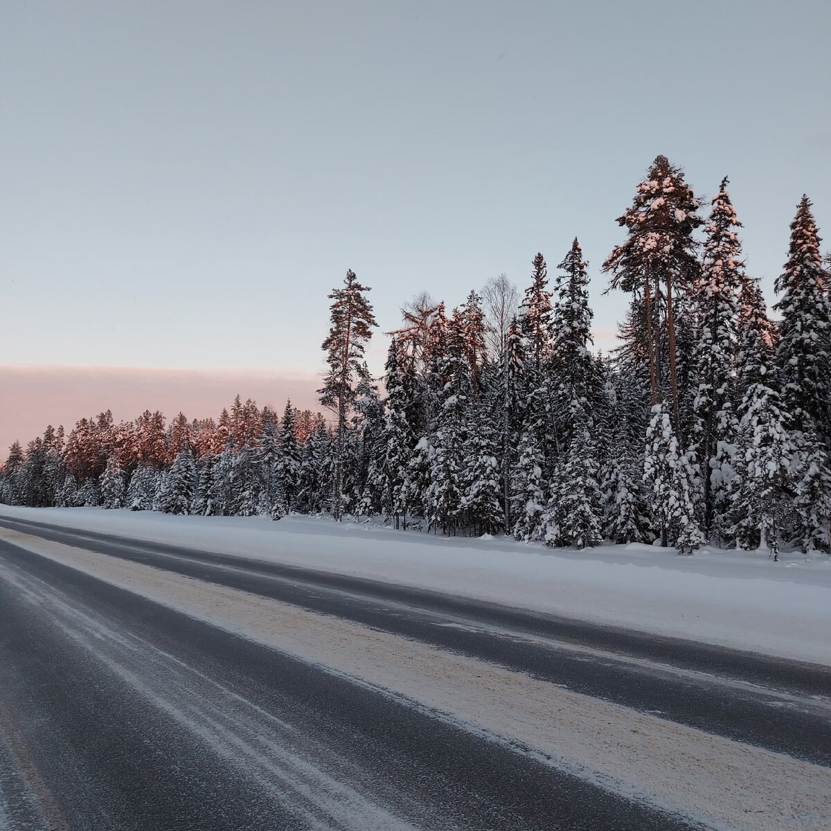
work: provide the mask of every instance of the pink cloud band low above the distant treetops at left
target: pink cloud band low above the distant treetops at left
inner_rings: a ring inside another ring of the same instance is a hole
[[[166,370],[117,366],[0,366],[0,463],[19,440],[26,446],[44,428],[62,424],[68,434],[76,421],[111,410],[116,421],[145,410],[167,419],[219,416],[234,396],[268,404],[282,415],[286,400],[301,410],[321,410],[311,372],[265,370]]]

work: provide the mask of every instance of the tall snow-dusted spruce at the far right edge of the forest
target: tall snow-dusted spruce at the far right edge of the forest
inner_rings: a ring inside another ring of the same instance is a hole
[[[831,305],[819,243],[811,202],[803,196],[790,225],[788,262],[775,283],[782,295],[774,305],[782,316],[776,363],[794,428],[815,430],[829,445]]]

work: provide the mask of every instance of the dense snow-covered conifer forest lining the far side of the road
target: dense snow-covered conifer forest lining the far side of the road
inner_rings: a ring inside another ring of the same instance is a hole
[[[707,211],[658,156],[637,185],[602,263],[628,297],[607,355],[593,350],[576,238],[551,278],[534,257],[524,293],[503,275],[451,310],[407,303],[382,379],[364,358],[369,289],[349,271],[329,296],[328,418],[239,397],[216,422],[102,413],[12,445],[0,501],[384,517],[574,548],[828,551],[831,258],[803,197],[772,320],[727,184]]]

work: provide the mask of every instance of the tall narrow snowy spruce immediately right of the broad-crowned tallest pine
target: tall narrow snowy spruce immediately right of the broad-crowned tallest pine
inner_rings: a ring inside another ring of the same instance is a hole
[[[735,397],[734,359],[738,333],[740,290],[747,282],[741,243],[727,178],[721,180],[712,200],[704,268],[697,288],[696,310],[699,332],[695,347],[697,390],[692,405],[692,441],[701,465],[704,528],[720,536],[727,509],[737,420],[732,403]]]

